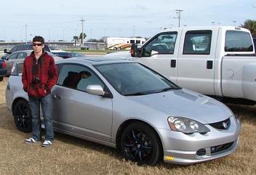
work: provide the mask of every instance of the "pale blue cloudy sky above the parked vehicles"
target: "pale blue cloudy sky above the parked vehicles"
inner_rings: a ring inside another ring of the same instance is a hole
[[[0,40],[25,41],[35,35],[46,41],[71,41],[81,33],[102,36],[150,37],[178,25],[175,9],[182,9],[180,26],[240,25],[255,20],[256,0],[4,0],[0,5]]]

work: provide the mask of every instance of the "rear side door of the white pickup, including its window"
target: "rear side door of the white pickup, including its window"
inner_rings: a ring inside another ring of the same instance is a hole
[[[212,30],[184,30],[177,60],[177,85],[202,94],[215,94]]]

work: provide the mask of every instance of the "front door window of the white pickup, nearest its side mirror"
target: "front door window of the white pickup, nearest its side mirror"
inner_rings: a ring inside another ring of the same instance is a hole
[[[173,54],[176,38],[177,32],[160,33],[145,45],[143,48],[143,57],[150,57],[152,51],[159,52],[159,54]]]

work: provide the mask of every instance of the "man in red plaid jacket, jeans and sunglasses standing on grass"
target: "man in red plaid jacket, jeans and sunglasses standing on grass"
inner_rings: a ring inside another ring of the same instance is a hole
[[[33,52],[25,58],[23,63],[23,89],[28,93],[28,104],[32,115],[32,137],[25,139],[31,144],[41,140],[41,121],[39,109],[44,116],[45,140],[42,147],[52,145],[54,133],[52,129],[52,86],[57,81],[55,60],[44,52],[44,38],[33,38]]]

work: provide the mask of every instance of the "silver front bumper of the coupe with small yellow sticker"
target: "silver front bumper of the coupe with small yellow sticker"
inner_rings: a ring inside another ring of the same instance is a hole
[[[207,134],[191,135],[177,131],[159,129],[164,148],[164,162],[175,164],[201,163],[207,160],[230,155],[239,143],[240,123],[231,117],[227,130],[207,126]]]

